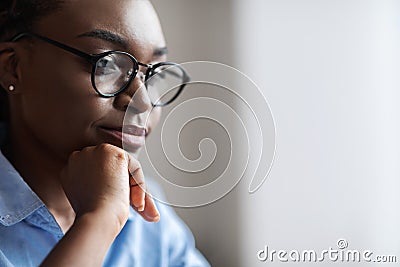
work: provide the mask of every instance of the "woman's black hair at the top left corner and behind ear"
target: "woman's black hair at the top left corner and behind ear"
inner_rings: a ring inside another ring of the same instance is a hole
[[[15,35],[32,31],[35,22],[61,8],[64,0],[1,0],[0,42]],[[0,88],[0,121],[8,121],[8,96]]]

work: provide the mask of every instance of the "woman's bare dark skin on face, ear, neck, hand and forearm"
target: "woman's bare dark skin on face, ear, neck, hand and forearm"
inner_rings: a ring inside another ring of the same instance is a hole
[[[99,29],[125,43],[85,34]],[[41,18],[34,32],[87,53],[121,50],[143,63],[166,60],[159,53],[165,40],[157,15],[145,0],[66,1]],[[90,64],[27,38],[0,44],[0,82],[3,88],[16,88],[7,91],[11,142],[4,153],[67,232],[44,265],[101,265],[127,220],[129,205],[144,219],[159,220],[142,189],[145,181],[136,159],[140,148],[129,155],[118,139],[101,130],[122,127],[135,93],[132,123],[146,120],[152,106],[147,93],[137,89],[139,78],[124,93],[101,98],[91,85]],[[158,123],[159,108],[150,114],[148,133]]]

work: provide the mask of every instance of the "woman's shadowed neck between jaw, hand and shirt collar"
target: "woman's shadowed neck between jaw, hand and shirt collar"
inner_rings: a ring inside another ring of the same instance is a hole
[[[66,160],[47,149],[26,127],[11,124],[9,133],[4,155],[66,232],[75,219],[59,178]]]

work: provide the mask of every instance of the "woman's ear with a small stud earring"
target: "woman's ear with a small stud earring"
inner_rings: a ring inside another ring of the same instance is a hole
[[[9,94],[18,93],[18,57],[13,42],[0,43],[0,85]],[[13,86],[13,90],[10,86]]]

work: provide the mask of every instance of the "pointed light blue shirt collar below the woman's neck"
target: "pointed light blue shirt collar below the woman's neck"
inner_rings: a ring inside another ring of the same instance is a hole
[[[44,203],[0,151],[0,223],[16,224]]]

